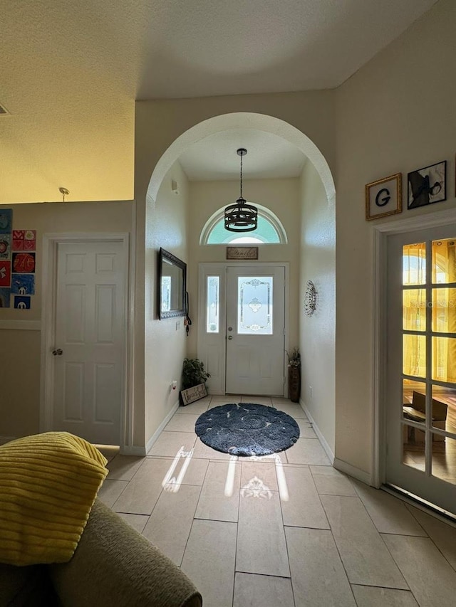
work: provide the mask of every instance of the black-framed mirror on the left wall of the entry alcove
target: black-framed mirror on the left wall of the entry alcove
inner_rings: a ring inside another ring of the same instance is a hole
[[[187,264],[160,248],[158,254],[158,317],[185,316],[187,290]]]

